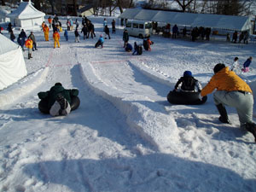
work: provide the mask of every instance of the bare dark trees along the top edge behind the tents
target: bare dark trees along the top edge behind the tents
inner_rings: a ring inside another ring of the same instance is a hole
[[[28,0],[23,0],[28,1]],[[134,0],[31,0],[34,7],[50,15],[78,15],[78,9],[85,5],[94,8],[95,15],[113,15],[119,9],[134,8]],[[1,0],[1,4],[20,3],[20,0]],[[189,13],[218,15],[252,15],[256,0],[147,0],[144,9],[176,10]]]

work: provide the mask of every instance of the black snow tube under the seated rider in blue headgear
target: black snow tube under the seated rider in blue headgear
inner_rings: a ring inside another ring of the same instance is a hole
[[[207,102],[207,96],[199,99],[199,92],[170,91],[167,95],[168,102],[179,105],[201,105]]]

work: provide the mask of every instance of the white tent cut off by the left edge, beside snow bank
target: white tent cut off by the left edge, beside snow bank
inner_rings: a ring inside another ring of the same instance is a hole
[[[26,76],[22,49],[0,34],[0,90]]]

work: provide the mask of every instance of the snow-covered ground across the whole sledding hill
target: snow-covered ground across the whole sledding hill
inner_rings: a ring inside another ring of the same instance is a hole
[[[27,77],[0,91],[0,191],[256,191],[256,145],[236,110],[227,108],[232,125],[223,125],[212,95],[201,106],[166,101],[185,70],[205,85],[215,64],[235,56],[242,64],[256,45],[153,36],[151,52],[131,55],[121,28],[95,49],[103,19],[90,20],[96,38],[74,43],[69,32],[67,42],[61,32],[60,49],[52,32],[49,42],[34,32]],[[255,72],[253,60],[241,75],[253,92]],[[38,92],[56,82],[80,91],[80,107],[67,117],[38,111]]]

